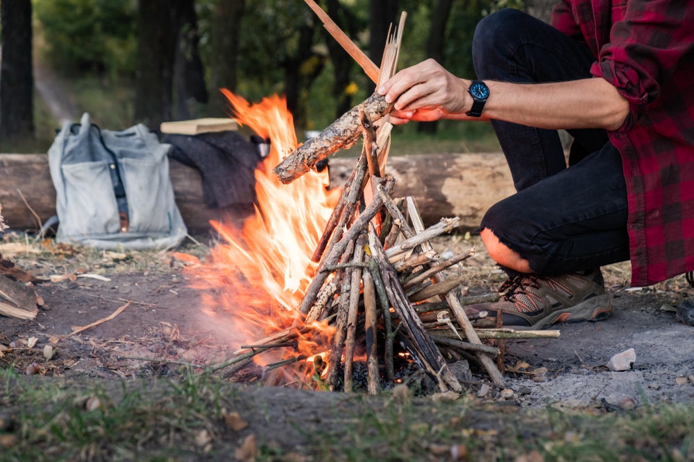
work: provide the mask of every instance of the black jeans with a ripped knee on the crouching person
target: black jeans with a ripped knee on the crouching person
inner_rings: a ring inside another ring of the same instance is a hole
[[[477,77],[505,82],[590,78],[595,57],[580,42],[518,10],[477,25]],[[518,191],[482,219],[538,274],[562,274],[629,259],[627,191],[607,132],[568,130],[569,164],[555,130],[492,121]]]

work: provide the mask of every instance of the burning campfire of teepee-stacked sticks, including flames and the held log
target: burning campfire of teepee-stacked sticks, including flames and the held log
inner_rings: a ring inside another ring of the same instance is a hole
[[[324,13],[321,19],[332,24]],[[400,40],[389,39],[382,78],[394,73]],[[355,57],[371,75],[368,58]],[[219,368],[231,377],[260,367],[267,384],[351,391],[355,364],[365,362],[367,389],[377,393],[382,382],[403,380],[396,368],[404,358],[439,390],[459,392],[449,364],[473,359],[502,385],[502,339],[519,334],[496,319],[496,329],[473,328],[464,304],[498,294],[459,297],[462,279],[444,276],[474,254],[442,260],[434,251],[431,240],[455,229],[457,218],[426,228],[412,197],[392,197],[394,180],[386,174],[392,106],[373,94],[299,145],[282,98],[251,105],[225,94],[237,123],[269,139],[271,149],[255,174],[255,215],[240,230],[213,223],[222,242],[208,263],[194,267],[198,287],[213,288],[205,292],[206,314],[231,320],[238,348]],[[328,172],[317,172],[316,163],[359,139],[362,154],[344,188],[331,190]],[[523,337],[535,335],[541,333]]]

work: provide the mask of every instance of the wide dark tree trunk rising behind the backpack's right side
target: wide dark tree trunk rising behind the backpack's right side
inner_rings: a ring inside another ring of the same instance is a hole
[[[171,121],[179,7],[177,1],[138,2],[135,120],[152,130]]]

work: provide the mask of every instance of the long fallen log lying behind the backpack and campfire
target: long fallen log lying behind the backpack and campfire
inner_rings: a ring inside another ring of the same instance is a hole
[[[342,186],[357,159],[330,158],[332,186]],[[203,201],[198,170],[171,159],[171,183],[176,204],[189,233],[207,233],[210,220],[240,222],[251,212],[248,207],[209,208]],[[0,154],[0,203],[10,231],[36,230],[56,214],[46,154]],[[459,217],[459,230],[472,231],[480,225],[489,206],[514,193],[513,181],[500,152],[468,154],[391,155],[385,174],[396,179],[393,197],[412,196],[426,226],[441,217]]]

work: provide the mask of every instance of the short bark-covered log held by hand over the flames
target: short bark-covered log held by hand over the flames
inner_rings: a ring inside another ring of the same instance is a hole
[[[294,152],[285,157],[273,172],[282,183],[291,183],[301,175],[312,170],[316,163],[330,154],[342,149],[351,148],[362,135],[360,112],[366,115],[370,122],[378,121],[393,109],[393,103],[386,103],[383,96],[374,93],[369,98],[348,112],[337,121],[328,125],[321,134],[306,141]]]

